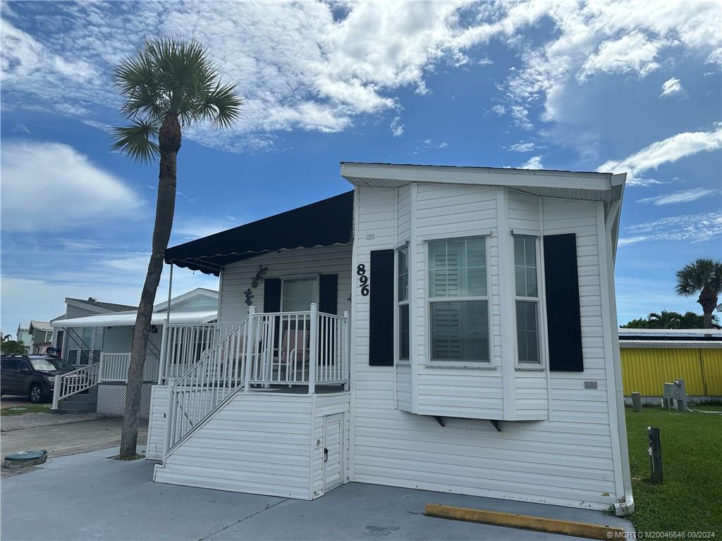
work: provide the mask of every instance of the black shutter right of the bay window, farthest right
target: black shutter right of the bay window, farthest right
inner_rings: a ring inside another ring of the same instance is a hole
[[[584,371],[574,233],[544,236],[544,283],[547,287],[549,370]]]

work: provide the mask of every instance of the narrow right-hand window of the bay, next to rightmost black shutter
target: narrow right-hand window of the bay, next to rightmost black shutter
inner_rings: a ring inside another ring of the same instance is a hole
[[[540,366],[537,240],[523,235],[513,238],[517,360],[520,365]]]

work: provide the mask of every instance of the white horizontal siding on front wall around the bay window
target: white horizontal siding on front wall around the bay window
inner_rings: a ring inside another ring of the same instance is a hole
[[[396,212],[401,216],[400,192],[395,188],[357,188],[354,265],[367,264],[370,250],[393,248],[404,240],[393,235],[400,232],[396,228]],[[352,480],[606,509],[621,495],[615,493],[606,402],[596,203],[544,200],[544,234],[577,234],[585,371],[512,371],[510,387],[516,418],[546,419],[550,412],[552,420],[501,421],[502,431],[497,432],[484,419],[503,418],[500,367],[503,363],[513,366],[514,358],[513,350],[503,351],[501,340],[496,196],[494,188],[484,186],[418,185],[412,230],[415,228],[419,237],[412,242],[417,240],[419,249],[416,274],[410,282],[417,288],[418,312],[412,315],[412,327],[416,327],[413,339],[417,341],[419,359],[412,359],[410,366],[395,367],[396,392],[391,367],[368,366],[368,302],[367,298],[355,296]],[[518,206],[523,208],[518,212],[513,208],[514,198],[510,202],[509,223],[529,233],[538,231],[541,223],[535,209],[539,208],[539,198],[522,195],[519,200],[523,203]],[[522,219],[528,223],[521,224]],[[487,234],[492,367],[430,366],[425,243],[430,237],[443,238],[441,235]],[[508,229],[504,234],[510,242]],[[503,279],[513,279],[512,268],[503,272]],[[512,287],[511,299],[513,294]],[[513,336],[516,338],[516,333]],[[595,380],[599,389],[585,390],[584,381],[588,379]],[[414,393],[418,393],[417,407],[413,404]],[[406,413],[414,408],[422,415]],[[430,415],[443,416],[445,427]]]

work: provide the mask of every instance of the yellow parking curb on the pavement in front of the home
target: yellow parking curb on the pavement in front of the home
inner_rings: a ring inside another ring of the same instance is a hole
[[[439,519],[465,520],[466,522],[481,522],[521,529],[533,529],[536,532],[550,534],[574,535],[588,537],[589,539],[623,539],[625,530],[599,524],[586,522],[573,522],[570,520],[546,519],[543,516],[519,515],[516,513],[500,513],[499,511],[483,511],[482,509],[467,509],[466,507],[443,506],[438,503],[427,503],[426,516],[435,516]]]

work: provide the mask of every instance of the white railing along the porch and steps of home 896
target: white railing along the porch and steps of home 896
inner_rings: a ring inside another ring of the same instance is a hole
[[[349,382],[349,317],[308,312],[256,314],[240,323],[169,325],[162,348],[162,374],[170,385],[167,453],[235,392],[271,385]],[[187,341],[184,341],[187,340]]]

